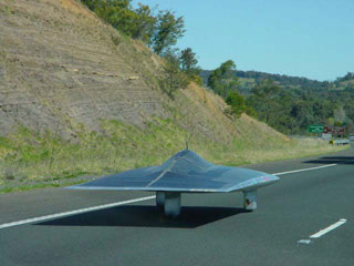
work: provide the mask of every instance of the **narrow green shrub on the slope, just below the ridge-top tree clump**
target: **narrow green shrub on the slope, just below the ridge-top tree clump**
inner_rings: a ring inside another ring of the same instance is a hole
[[[186,75],[179,70],[179,57],[174,51],[168,51],[164,54],[165,76],[160,80],[159,84],[162,90],[171,99],[175,98],[175,92],[188,85],[189,81]]]

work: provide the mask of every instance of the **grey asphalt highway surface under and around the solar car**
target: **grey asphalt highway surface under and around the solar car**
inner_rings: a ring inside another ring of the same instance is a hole
[[[329,164],[335,165],[281,174],[259,190],[252,213],[241,208],[241,193],[183,194],[176,219],[147,200],[0,228],[0,265],[354,265],[353,149],[249,167],[283,173]],[[149,195],[58,188],[4,194],[0,227]]]

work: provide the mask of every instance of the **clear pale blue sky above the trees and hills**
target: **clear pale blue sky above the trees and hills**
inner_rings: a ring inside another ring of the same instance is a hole
[[[199,65],[231,59],[239,70],[315,80],[354,72],[354,0],[138,0],[184,16],[177,48]]]

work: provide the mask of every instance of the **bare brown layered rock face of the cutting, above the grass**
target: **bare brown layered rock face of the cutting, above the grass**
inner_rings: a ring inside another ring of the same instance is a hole
[[[159,116],[230,141],[237,123],[258,123],[244,115],[233,123],[220,98],[192,84],[170,101],[160,75],[158,57],[80,1],[0,1],[0,135],[24,125],[71,137],[80,124],[100,131],[102,119],[144,126]]]

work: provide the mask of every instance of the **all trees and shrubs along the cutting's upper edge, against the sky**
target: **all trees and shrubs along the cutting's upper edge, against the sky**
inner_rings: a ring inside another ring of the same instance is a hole
[[[102,20],[115,28],[122,35],[139,40],[156,54],[165,59],[164,74],[159,85],[170,99],[179,89],[185,89],[190,81],[202,85],[200,68],[191,48],[174,48],[185,33],[185,19],[176,17],[171,10],[158,10],[132,0],[81,0]],[[118,43],[117,39],[113,39]]]

